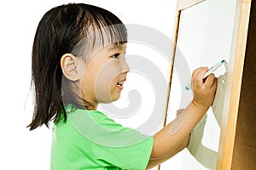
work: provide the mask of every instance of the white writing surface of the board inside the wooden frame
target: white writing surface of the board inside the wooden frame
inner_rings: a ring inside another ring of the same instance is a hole
[[[181,2],[183,1],[179,1]],[[211,67],[222,59],[229,62],[235,9],[236,1],[233,0],[206,0],[181,10],[167,122],[171,122],[176,111],[185,108],[192,99],[191,90],[187,91],[184,86],[190,82],[189,78],[196,68]],[[222,66],[214,73],[219,77],[224,72],[225,68]],[[177,96],[177,91],[181,97]],[[222,102],[219,100],[217,103],[221,105]],[[218,109],[217,114],[222,114],[220,111],[222,110]],[[185,149],[178,155],[183,157],[181,169],[216,169],[221,120],[217,120],[214,114],[212,108],[207,111],[206,126],[199,142],[207,150],[207,153],[201,153],[204,159],[196,160]],[[168,169],[166,165],[167,162],[163,163],[161,169]]]

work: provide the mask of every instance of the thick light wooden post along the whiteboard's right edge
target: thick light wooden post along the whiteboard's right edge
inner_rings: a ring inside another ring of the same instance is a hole
[[[231,169],[250,8],[251,0],[236,1],[236,15],[228,72],[230,78],[227,79],[226,85],[224,116],[219,140],[217,169]]]

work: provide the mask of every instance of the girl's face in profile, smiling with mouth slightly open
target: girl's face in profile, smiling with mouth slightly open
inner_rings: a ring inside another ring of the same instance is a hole
[[[125,62],[125,48],[126,44],[104,47],[84,65],[80,81],[82,98],[95,107],[98,103],[119,99],[129,71]]]

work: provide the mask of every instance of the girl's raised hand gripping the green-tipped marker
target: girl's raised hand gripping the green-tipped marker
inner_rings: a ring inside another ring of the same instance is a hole
[[[191,80],[191,88],[193,90],[192,104],[203,106],[206,109],[212,105],[217,87],[217,78],[213,74],[203,79],[207,70],[207,67],[196,69],[192,74]]]

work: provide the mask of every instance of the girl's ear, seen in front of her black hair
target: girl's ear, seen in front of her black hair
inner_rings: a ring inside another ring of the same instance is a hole
[[[64,54],[61,57],[61,70],[65,77],[71,81],[77,81],[81,77],[81,63],[73,54]]]

